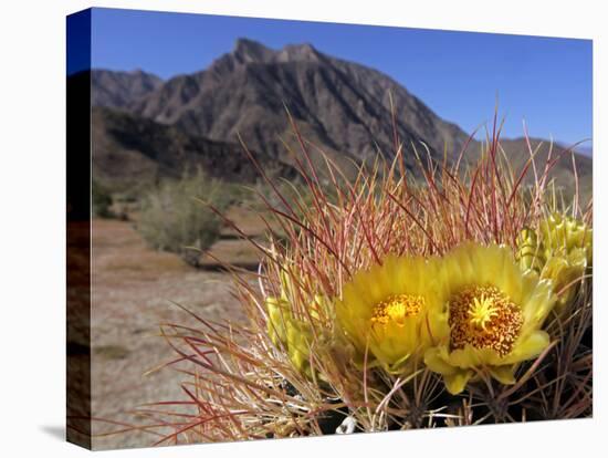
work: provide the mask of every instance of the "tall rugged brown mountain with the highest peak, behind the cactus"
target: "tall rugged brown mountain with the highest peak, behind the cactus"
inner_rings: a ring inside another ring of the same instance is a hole
[[[128,106],[139,116],[218,140],[243,137],[249,147],[285,156],[294,145],[285,108],[305,137],[358,160],[394,150],[390,98],[398,135],[433,152],[467,138],[389,76],[332,58],[310,44],[274,51],[240,39],[207,70],[168,80]]]

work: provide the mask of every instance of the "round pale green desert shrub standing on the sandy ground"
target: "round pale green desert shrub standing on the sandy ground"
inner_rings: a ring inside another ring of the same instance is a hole
[[[222,220],[210,206],[220,211],[229,207],[233,199],[224,190],[220,180],[200,169],[161,181],[144,197],[137,229],[153,248],[177,253],[196,267],[200,252],[220,236]]]

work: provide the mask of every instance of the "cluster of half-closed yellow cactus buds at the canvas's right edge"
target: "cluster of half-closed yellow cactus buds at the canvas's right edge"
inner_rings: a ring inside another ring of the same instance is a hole
[[[538,235],[522,230],[517,259],[522,269],[534,270],[542,279],[553,281],[557,305],[564,309],[576,294],[577,280],[591,266],[593,229],[574,218],[553,214],[541,222]]]

